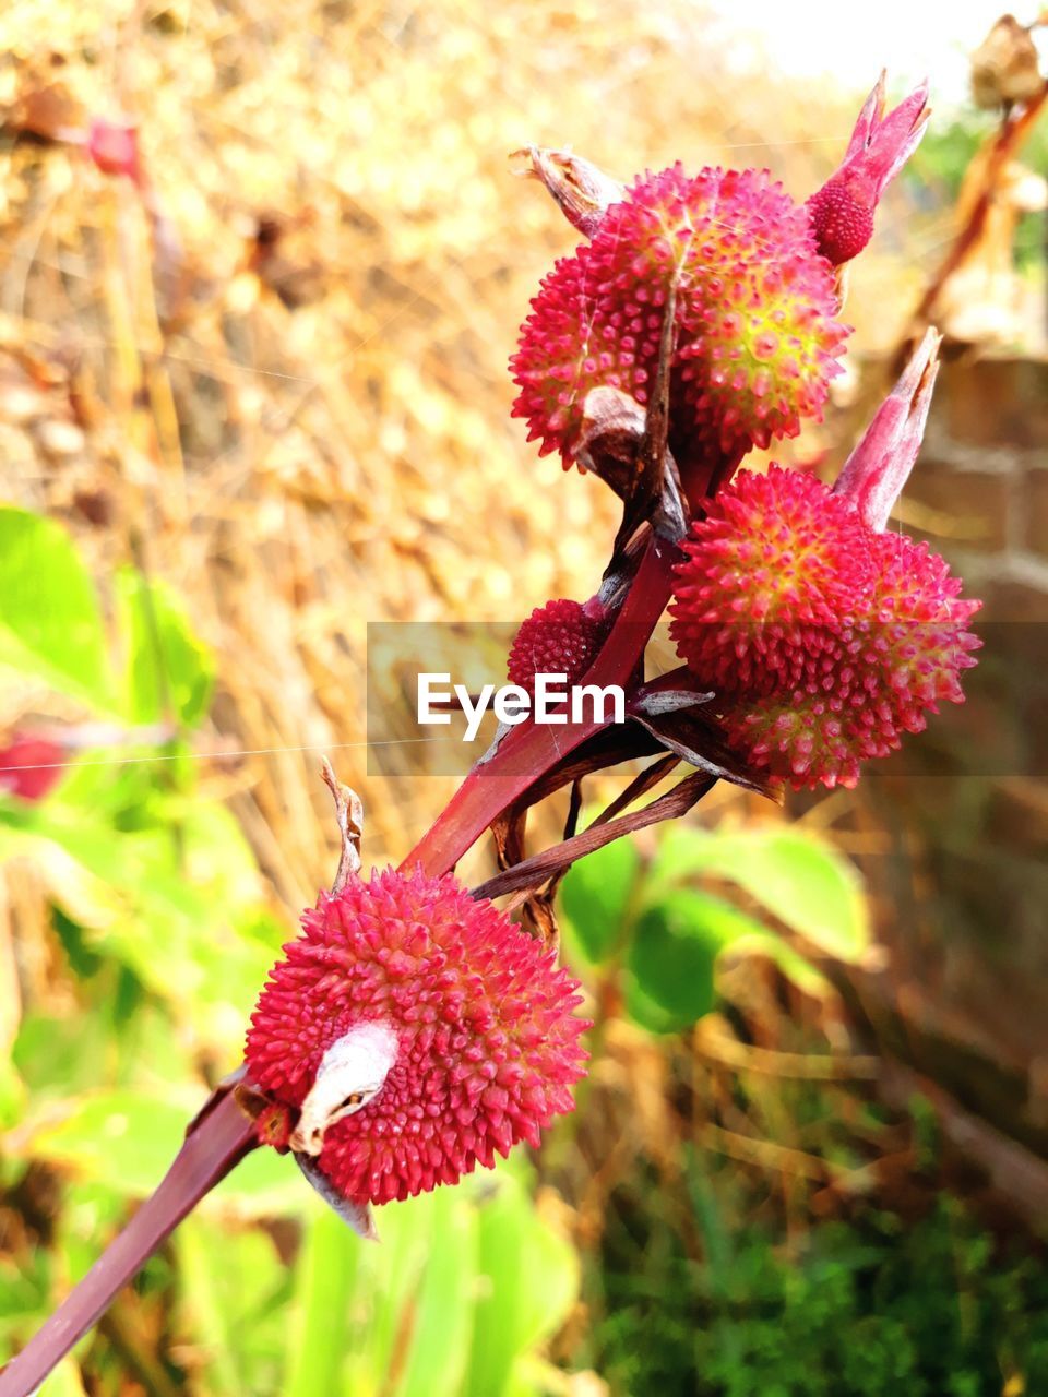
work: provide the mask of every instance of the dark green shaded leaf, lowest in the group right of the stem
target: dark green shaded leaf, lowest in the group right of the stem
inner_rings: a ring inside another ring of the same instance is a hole
[[[627,957],[630,1016],[657,1032],[689,1027],[714,1006],[714,963],[721,949],[760,930],[759,922],[729,902],[689,888],[669,890],[644,908],[634,928]]]

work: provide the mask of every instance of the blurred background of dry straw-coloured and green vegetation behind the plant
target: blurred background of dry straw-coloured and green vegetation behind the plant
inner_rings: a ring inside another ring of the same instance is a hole
[[[613,503],[509,420],[572,237],[507,152],[769,163],[802,197],[859,94],[731,71],[683,3],[18,0],[0,41],[0,732],[70,763],[41,802],[0,793],[4,1358],[236,1063],[331,877],[320,753],[376,863],[450,791],[409,747],[369,771],[365,623],[592,590]],[[145,203],[77,144],[120,113]],[[893,190],[861,351],[901,332],[970,144]],[[778,457],[838,447],[847,393]],[[928,1106],[885,1104],[850,1020],[886,840],[848,793],[784,819],[717,792],[580,865],[594,1071],[541,1160],[386,1208],[365,1248],[259,1153],[45,1391],[1048,1389],[1038,1243]]]

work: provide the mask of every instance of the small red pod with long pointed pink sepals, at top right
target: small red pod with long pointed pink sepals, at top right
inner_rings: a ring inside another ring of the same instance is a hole
[[[844,161],[808,200],[819,251],[834,267],[858,257],[873,236],[880,196],[917,149],[928,124],[928,84],[885,116],[885,74],[866,98]]]

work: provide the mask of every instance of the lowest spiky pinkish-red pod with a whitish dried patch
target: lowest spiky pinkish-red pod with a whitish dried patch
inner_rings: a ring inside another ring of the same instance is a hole
[[[454,1183],[520,1140],[538,1144],[572,1109],[588,1027],[573,1013],[578,982],[454,877],[351,879],[302,925],[252,1016],[253,1081],[300,1108],[324,1053],[356,1024],[386,1024],[397,1039],[377,1095],[324,1136],[316,1162],[342,1197],[387,1203]]]

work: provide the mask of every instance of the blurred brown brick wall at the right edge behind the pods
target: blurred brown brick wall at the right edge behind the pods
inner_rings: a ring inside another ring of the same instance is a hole
[[[968,701],[861,784],[859,823],[880,837],[861,862],[896,1010],[1014,1073],[998,1125],[1033,1144],[1048,1120],[1048,363],[943,365],[900,513],[984,598],[985,648]],[[974,1059],[935,1056],[918,1065],[981,1095]]]

